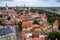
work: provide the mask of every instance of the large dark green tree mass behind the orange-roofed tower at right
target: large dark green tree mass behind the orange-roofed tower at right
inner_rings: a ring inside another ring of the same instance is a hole
[[[49,11],[46,11],[46,15],[47,15],[47,17],[48,17],[48,19],[47,19],[47,21],[51,24],[51,25],[53,25],[53,22],[54,22],[54,20],[58,20],[58,21],[60,21],[60,15],[59,14],[57,14],[57,13],[52,13],[52,12],[49,12]],[[59,24],[60,24],[60,22],[59,22]]]

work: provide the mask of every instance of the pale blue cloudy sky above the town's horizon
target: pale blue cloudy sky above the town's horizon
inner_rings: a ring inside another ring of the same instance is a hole
[[[60,0],[0,0],[0,6],[60,7]]]

